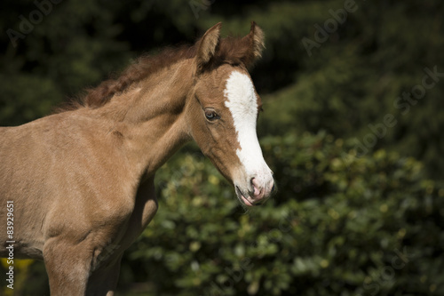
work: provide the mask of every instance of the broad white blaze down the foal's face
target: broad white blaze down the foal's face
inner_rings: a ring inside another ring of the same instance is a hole
[[[226,80],[224,94],[225,105],[233,116],[237,140],[241,145],[241,148],[236,150],[236,154],[241,160],[247,177],[259,178],[266,186],[269,179],[273,180],[273,177],[262,156],[256,134],[258,97],[250,77],[239,71],[233,71]]]

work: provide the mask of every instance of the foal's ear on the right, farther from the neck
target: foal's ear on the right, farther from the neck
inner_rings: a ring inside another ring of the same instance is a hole
[[[262,52],[266,48],[264,31],[251,21],[250,33],[242,38],[243,42],[247,44],[247,52],[243,57],[243,63],[247,68],[250,68],[258,59],[262,57]]]

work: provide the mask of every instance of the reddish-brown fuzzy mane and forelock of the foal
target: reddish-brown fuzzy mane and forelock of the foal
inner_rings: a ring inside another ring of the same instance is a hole
[[[87,89],[83,96],[71,100],[57,113],[77,108],[99,108],[113,98],[115,94],[122,93],[132,84],[154,75],[163,68],[169,67],[180,60],[195,57],[200,40],[193,45],[181,45],[179,47],[166,47],[156,55],[145,54],[140,56],[128,68],[125,68],[120,76],[111,77],[94,88]],[[220,40],[218,50],[210,63],[210,68],[215,68],[223,63],[242,65],[243,58],[249,49],[249,44],[241,37],[226,37]]]

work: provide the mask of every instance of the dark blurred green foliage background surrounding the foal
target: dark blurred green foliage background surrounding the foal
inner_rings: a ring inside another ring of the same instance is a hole
[[[258,134],[278,195],[243,212],[186,146],[158,172],[160,210],[118,295],[442,295],[443,15],[440,0],[5,0],[0,125],[218,21],[226,36],[256,20]],[[14,295],[49,294],[43,263],[16,267]]]

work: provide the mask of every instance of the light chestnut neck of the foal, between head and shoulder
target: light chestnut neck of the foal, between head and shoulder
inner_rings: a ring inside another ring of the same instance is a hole
[[[194,81],[191,61],[183,60],[131,86],[100,110],[123,139],[134,169],[146,177],[164,164],[186,141],[186,97]]]

